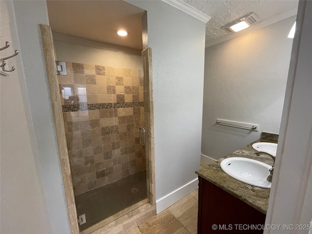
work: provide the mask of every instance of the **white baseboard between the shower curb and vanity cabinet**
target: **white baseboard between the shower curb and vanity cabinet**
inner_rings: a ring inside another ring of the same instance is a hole
[[[156,200],[156,214],[159,214],[163,210],[175,204],[178,200],[181,200],[186,195],[189,195],[198,188],[198,178],[183,185],[168,195]]]

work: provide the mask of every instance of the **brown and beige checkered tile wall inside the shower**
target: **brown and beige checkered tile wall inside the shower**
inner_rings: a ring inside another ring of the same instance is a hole
[[[145,170],[143,72],[66,66],[59,83],[75,195]]]

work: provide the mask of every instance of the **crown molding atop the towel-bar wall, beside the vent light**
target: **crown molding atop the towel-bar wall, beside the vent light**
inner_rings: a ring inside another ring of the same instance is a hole
[[[220,42],[223,42],[223,41],[226,41],[226,40],[229,40],[229,39],[233,39],[233,38],[239,37],[239,36],[241,36],[243,34],[252,32],[252,31],[254,31],[256,29],[259,29],[259,28],[268,26],[270,24],[276,23],[276,22],[278,22],[280,20],[284,20],[284,19],[287,19],[289,17],[295,16],[295,15],[297,15],[297,11],[298,11],[298,7],[292,8],[289,11],[285,11],[285,12],[283,12],[281,14],[278,14],[276,16],[273,16],[273,17],[271,17],[271,18],[269,18],[267,20],[259,21],[259,22],[255,23],[255,24],[251,25],[250,27],[248,27],[245,30],[242,30],[242,31],[237,32],[237,33],[235,33],[235,32],[234,33],[230,33],[230,34],[228,34],[228,35],[226,35],[226,36],[224,36],[224,37],[222,37],[220,39],[216,39],[216,40],[214,40],[214,41],[212,41],[210,43],[207,43],[205,45],[205,47],[207,48],[209,46],[218,44]]]

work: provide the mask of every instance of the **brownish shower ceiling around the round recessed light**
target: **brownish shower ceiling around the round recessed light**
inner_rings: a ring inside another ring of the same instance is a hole
[[[142,50],[144,10],[121,0],[48,0],[52,31]],[[120,37],[117,29],[129,32]]]

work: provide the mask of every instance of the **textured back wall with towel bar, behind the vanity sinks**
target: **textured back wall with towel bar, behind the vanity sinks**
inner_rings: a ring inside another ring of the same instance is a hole
[[[292,51],[295,16],[205,50],[202,157],[214,161],[278,134]],[[216,124],[216,119],[259,125],[258,131]]]

